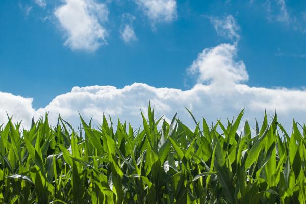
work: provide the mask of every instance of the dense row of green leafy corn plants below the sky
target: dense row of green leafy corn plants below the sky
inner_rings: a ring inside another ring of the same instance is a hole
[[[78,131],[61,118],[30,130],[10,120],[0,127],[0,202],[305,203],[305,125],[293,121],[288,135],[265,114],[238,134],[242,115],[209,126],[191,114],[194,130],[154,120],[150,106],[139,130],[104,116],[98,127],[80,117]]]

